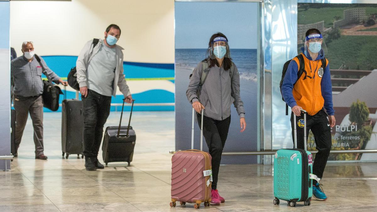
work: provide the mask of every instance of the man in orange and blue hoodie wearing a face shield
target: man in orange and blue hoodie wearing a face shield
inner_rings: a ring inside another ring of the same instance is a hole
[[[282,95],[292,108],[291,127],[294,136],[294,125],[297,128],[297,148],[304,149],[304,120],[300,109],[308,112],[307,134],[313,132],[318,153],[313,164],[313,174],[322,178],[323,171],[332,146],[331,128],[335,126],[331,77],[328,60],[325,58],[325,43],[318,29],[309,29],[305,34],[305,46],[301,55],[305,64],[299,76],[300,60],[295,57],[288,65],[282,84]],[[299,56],[301,57],[301,56]],[[293,123],[293,115],[297,123]],[[317,200],[326,200],[322,184],[313,180],[313,195]]]

